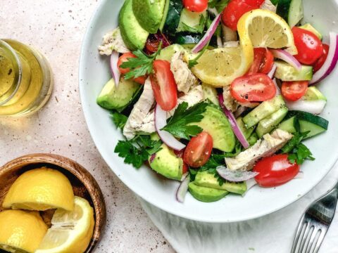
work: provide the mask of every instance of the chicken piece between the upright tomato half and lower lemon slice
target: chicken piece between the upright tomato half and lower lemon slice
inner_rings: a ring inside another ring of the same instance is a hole
[[[198,84],[198,80],[189,70],[187,63],[183,59],[184,52],[177,52],[173,55],[171,59],[171,71],[174,74],[175,82],[177,84],[178,91],[182,91],[185,94]]]

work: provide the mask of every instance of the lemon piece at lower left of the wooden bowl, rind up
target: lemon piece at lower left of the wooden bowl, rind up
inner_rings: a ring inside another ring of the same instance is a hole
[[[46,231],[38,212],[0,212],[0,249],[7,252],[35,252]]]

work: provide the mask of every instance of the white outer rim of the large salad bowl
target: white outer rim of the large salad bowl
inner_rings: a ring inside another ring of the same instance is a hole
[[[84,93],[85,93],[84,86],[86,84],[86,80],[83,78],[84,72],[85,72],[85,63],[84,63],[84,60],[82,60],[82,59],[86,55],[86,51],[87,51],[87,48],[89,47],[89,44],[92,43],[92,41],[90,40],[90,37],[89,37],[89,34],[91,34],[91,31],[92,31],[91,25],[94,22],[94,20],[96,20],[98,18],[98,16],[100,15],[100,13],[101,13],[102,9],[104,8],[107,1],[108,0],[101,0],[99,2],[98,6],[96,6],[94,13],[92,14],[92,17],[90,18],[90,20],[88,22],[87,29],[84,33],[83,40],[82,40],[80,58],[79,58],[79,72],[78,72],[78,74],[79,74],[80,100],[81,100],[81,103],[82,103],[82,110],[83,110],[83,113],[84,113],[84,119],[86,120],[86,124],[87,124],[87,127],[89,129],[90,136],[92,137],[92,140],[93,140],[94,144],[96,145],[97,150],[99,151],[101,157],[104,159],[106,164],[108,164],[108,162],[107,162],[108,158],[106,157],[106,155],[104,155],[105,154],[104,148],[102,148],[100,145],[97,145],[98,140],[95,138],[95,136],[93,134],[94,133],[94,126],[91,124],[91,121],[90,121],[89,108],[84,106],[84,102],[86,101],[84,99]],[[330,161],[330,164],[327,164],[325,166],[325,167],[328,168],[327,171],[325,171],[325,174],[323,174],[323,177],[319,177],[318,179],[315,179],[315,183],[313,183],[312,188],[317,186],[318,183],[320,183],[320,181],[322,181],[325,178],[325,176],[327,176],[327,174],[331,171],[331,169],[334,167],[334,164],[336,164],[337,161],[338,161],[338,155],[336,155],[336,157],[334,157],[334,159],[332,159]],[[163,211],[168,212],[170,214],[173,214],[175,216],[180,216],[184,219],[199,221],[199,222],[205,222],[205,223],[232,223],[232,222],[249,221],[251,219],[257,219],[257,218],[260,218],[262,216],[277,212],[278,210],[283,209],[284,207],[291,205],[292,203],[296,202],[297,200],[300,200],[302,197],[304,197],[306,194],[308,194],[312,190],[312,188],[308,188],[306,190],[303,190],[303,192],[301,193],[301,195],[299,197],[294,197],[291,200],[284,202],[283,205],[280,205],[277,208],[268,209],[267,211],[264,211],[264,212],[256,212],[255,214],[251,214],[250,216],[248,215],[245,218],[243,217],[243,218],[237,218],[237,219],[231,219],[231,220],[228,220],[226,218],[225,219],[207,219],[206,217],[201,217],[201,216],[199,216],[198,218],[196,218],[196,216],[194,216],[192,218],[189,215],[185,215],[185,214],[182,214],[180,212],[177,212],[175,209],[169,209],[168,207],[163,207],[161,205],[158,205],[156,200],[153,200],[151,197],[149,197],[149,195],[146,195],[146,194],[140,195],[139,193],[137,193],[137,188],[134,187],[134,185],[132,183],[127,183],[127,179],[125,178],[125,176],[123,176],[122,174],[119,174],[119,175],[116,174],[114,169],[112,169],[109,164],[108,164],[108,167],[111,169],[111,171],[113,171],[113,173],[118,177],[118,179],[120,179],[120,181],[122,181],[125,184],[125,186],[127,186],[127,188],[132,190],[132,192],[134,194],[136,194],[137,196],[139,196],[142,200],[149,202],[151,205],[154,205],[158,209],[162,209]]]

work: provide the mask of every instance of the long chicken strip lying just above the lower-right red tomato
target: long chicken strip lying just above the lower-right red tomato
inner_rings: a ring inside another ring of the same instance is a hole
[[[263,140],[258,140],[255,145],[236,157],[225,158],[228,169],[249,171],[253,165],[263,157],[269,157],[282,148],[290,139],[292,134],[287,131],[276,129],[273,134],[265,134]]]

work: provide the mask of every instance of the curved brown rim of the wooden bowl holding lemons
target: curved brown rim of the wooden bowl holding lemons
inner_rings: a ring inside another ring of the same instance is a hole
[[[94,212],[95,212],[95,227],[94,233],[91,242],[86,250],[87,253],[93,252],[94,248],[98,244],[99,240],[101,239],[101,234],[103,233],[104,227],[106,226],[106,202],[104,200],[104,195],[102,194],[101,188],[99,183],[97,183],[94,176],[87,171],[81,164],[75,162],[74,160],[64,157],[62,155],[54,155],[54,154],[46,154],[46,153],[35,153],[30,155],[23,155],[21,157],[17,157],[10,162],[2,165],[0,167],[0,174],[5,174],[12,169],[18,169],[19,167],[25,167],[27,164],[53,164],[57,167],[61,167],[66,169],[71,174],[73,174],[83,185],[87,188],[87,191],[92,198],[92,202],[94,205]],[[76,169],[77,167],[77,169]],[[89,179],[88,182],[84,182],[81,179],[81,175],[85,178]],[[88,188],[90,185],[94,186],[94,192],[89,192]],[[96,205],[94,200],[99,200],[99,205]]]

